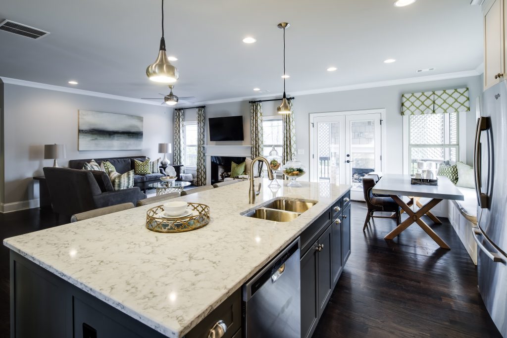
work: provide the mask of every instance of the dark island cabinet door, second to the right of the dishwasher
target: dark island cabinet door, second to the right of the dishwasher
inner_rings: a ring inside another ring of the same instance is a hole
[[[318,307],[319,318],[333,291],[331,276],[331,226],[318,239]]]

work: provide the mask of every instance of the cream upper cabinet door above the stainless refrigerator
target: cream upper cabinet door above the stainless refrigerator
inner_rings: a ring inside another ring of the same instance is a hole
[[[503,0],[495,0],[484,15],[484,89],[500,82],[504,72]]]

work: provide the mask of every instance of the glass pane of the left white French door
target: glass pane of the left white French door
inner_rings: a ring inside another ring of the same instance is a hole
[[[317,180],[340,183],[340,123],[317,122]]]

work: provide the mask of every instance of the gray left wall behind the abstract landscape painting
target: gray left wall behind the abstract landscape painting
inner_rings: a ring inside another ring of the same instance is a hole
[[[143,148],[137,151],[78,151],[78,110],[142,116]],[[32,176],[52,166],[44,160],[44,144],[66,144],[69,159],[146,155],[158,158],[158,143],[172,142],[172,109],[87,95],[5,84],[5,201],[38,198]]]

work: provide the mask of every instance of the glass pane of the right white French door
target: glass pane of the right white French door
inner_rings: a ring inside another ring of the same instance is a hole
[[[363,191],[363,177],[375,171],[375,120],[350,122],[350,174],[355,191]]]

